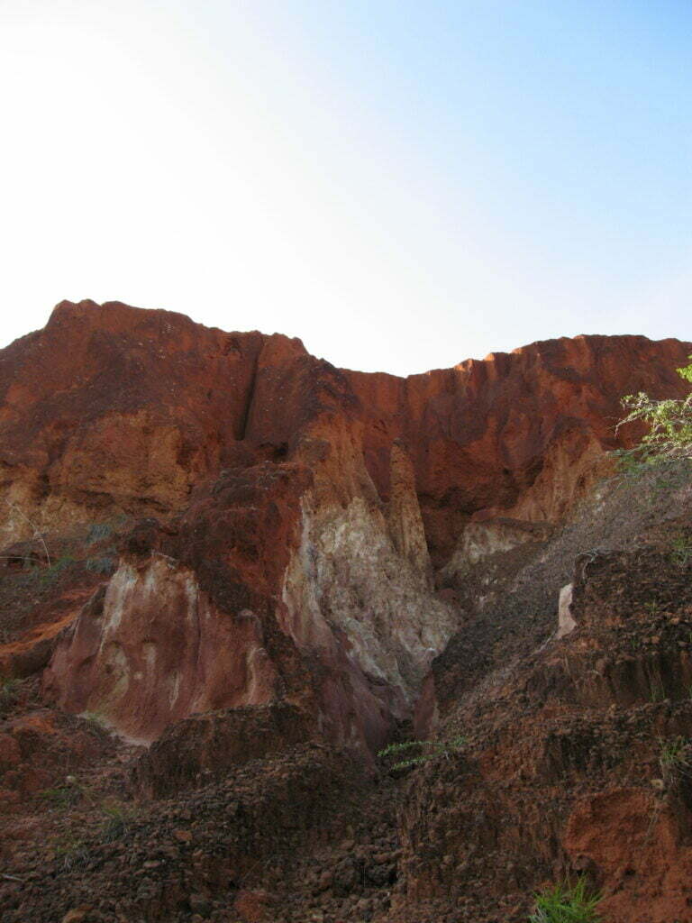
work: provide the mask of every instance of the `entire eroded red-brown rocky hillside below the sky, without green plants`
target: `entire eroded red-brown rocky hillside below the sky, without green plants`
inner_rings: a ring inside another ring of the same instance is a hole
[[[690,352],[402,379],[90,302],[0,352],[0,917],[687,919],[692,466],[591,486]]]

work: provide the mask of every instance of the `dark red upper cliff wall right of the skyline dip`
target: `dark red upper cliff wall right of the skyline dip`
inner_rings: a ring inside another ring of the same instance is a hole
[[[392,442],[409,448],[425,534],[444,566],[469,521],[559,521],[603,473],[623,394],[687,393],[688,343],[580,336],[532,343],[410,378],[349,372],[364,450],[388,495]]]

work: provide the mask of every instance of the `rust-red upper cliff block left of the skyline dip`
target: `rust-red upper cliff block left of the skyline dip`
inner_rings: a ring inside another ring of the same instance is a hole
[[[208,330],[183,315],[117,303],[58,305],[0,352],[3,545],[30,522],[64,530],[113,513],[170,513],[253,430],[280,443],[282,398],[257,392],[299,341]],[[272,422],[273,421],[273,422]]]

